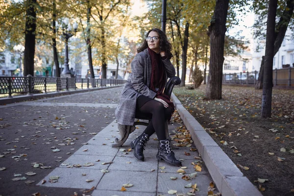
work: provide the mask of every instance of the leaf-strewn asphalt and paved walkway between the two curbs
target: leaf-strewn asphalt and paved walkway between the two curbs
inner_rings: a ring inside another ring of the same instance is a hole
[[[30,196],[38,192],[41,196],[71,196],[76,192],[82,196],[84,192],[92,196],[168,196],[169,190],[187,194],[192,188],[185,185],[196,183],[199,191],[195,195],[207,196],[212,178],[204,164],[196,177],[181,179],[195,172],[192,162],[202,161],[194,158],[199,156],[197,151],[189,150],[196,148],[193,143],[191,147],[173,146],[176,157],[187,167],[183,169],[185,174],[177,172],[180,167],[155,159],[155,135],[147,143],[145,162],[138,161],[133,150],[127,151],[131,140],[143,132],[143,126],[129,136],[122,147],[126,151],[111,147],[119,137],[114,110],[121,90],[119,87],[0,106],[0,155],[4,155],[0,168],[5,168],[0,171],[0,195]],[[172,123],[171,136],[181,125]],[[93,166],[86,167],[86,163]],[[25,180],[11,180],[24,176]],[[51,183],[51,176],[58,176],[58,181]],[[120,191],[127,183],[133,186]],[[94,190],[87,192],[91,188]]]

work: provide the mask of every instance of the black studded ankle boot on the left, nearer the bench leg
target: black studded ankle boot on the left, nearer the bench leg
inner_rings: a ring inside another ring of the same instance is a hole
[[[146,133],[142,133],[134,141],[131,142],[131,147],[134,149],[134,155],[137,159],[144,161],[143,150],[146,143],[149,141],[149,136]]]

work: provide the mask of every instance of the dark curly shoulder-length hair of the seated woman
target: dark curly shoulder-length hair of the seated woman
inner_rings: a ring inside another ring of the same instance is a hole
[[[168,40],[167,35],[159,28],[153,28],[147,32],[146,37],[148,37],[148,35],[151,31],[155,31],[158,33],[159,40],[160,40],[160,43],[159,43],[160,51],[164,51],[166,57],[168,59],[171,59],[173,57],[172,45],[171,45],[170,41]],[[148,48],[148,44],[147,44],[146,39],[144,39],[143,44],[137,49],[137,52],[139,53],[147,48]]]

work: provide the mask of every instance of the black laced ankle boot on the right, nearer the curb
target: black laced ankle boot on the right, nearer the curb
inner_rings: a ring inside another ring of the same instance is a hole
[[[172,166],[182,166],[182,162],[174,157],[174,152],[171,149],[169,140],[159,141],[159,148],[156,158],[158,160],[164,160]]]

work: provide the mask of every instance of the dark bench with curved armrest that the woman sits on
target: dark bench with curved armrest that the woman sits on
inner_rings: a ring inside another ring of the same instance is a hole
[[[163,94],[171,98],[173,87],[175,85],[179,85],[180,83],[181,83],[181,79],[179,77],[174,76],[170,78],[165,86]],[[123,125],[118,123],[121,139],[116,138],[115,139],[116,144],[113,144],[112,147],[121,147],[124,144],[124,142],[127,140],[129,134],[132,133],[134,130],[136,130],[136,125],[145,125],[145,126],[148,125],[148,123],[142,122],[141,120],[148,120],[148,122],[150,122],[151,118],[152,118],[152,115],[136,114],[135,123],[133,126]],[[165,131],[166,131],[167,138],[169,138],[169,129],[168,129],[167,121],[165,122]]]

